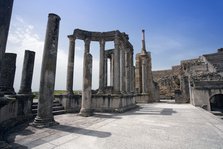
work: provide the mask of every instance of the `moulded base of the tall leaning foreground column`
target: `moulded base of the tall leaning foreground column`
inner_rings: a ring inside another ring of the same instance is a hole
[[[59,123],[56,122],[53,118],[43,119],[39,116],[36,116],[33,123],[31,123],[30,125],[36,128],[45,128],[59,125]]]

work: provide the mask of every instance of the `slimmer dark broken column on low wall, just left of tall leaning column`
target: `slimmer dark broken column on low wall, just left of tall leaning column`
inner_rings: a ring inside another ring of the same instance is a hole
[[[33,78],[33,67],[35,61],[35,52],[25,50],[22,79],[19,94],[32,94],[32,78]]]

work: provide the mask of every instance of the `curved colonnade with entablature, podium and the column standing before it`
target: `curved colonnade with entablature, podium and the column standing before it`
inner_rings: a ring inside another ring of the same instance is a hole
[[[69,38],[67,66],[67,95],[59,100],[67,111],[78,111],[80,115],[90,116],[93,111],[124,111],[135,107],[133,47],[128,35],[120,31],[90,32],[75,29]],[[73,94],[73,71],[75,41],[84,41],[83,89],[82,97]],[[99,89],[92,93],[92,55],[91,41],[100,45]],[[108,41],[114,42],[114,49],[105,49]],[[107,64],[110,60],[110,86],[108,86]],[[80,99],[81,98],[81,99]],[[81,104],[80,104],[81,102]]]

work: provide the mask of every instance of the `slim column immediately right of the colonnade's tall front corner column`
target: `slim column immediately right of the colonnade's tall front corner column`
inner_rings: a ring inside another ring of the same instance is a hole
[[[122,46],[120,50],[120,91],[121,93],[126,92],[125,88],[125,48]]]

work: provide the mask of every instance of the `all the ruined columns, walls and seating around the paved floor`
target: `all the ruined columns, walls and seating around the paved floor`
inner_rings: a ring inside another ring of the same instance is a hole
[[[21,85],[14,90],[16,72],[15,53],[5,53],[13,0],[0,0],[0,148],[7,147],[7,131],[30,119],[33,120],[32,78],[35,52],[26,50]],[[53,102],[59,102],[66,112],[91,116],[97,112],[123,112],[136,103],[174,98],[176,103],[191,103],[206,110],[223,110],[223,49],[196,59],[181,61],[171,70],[152,72],[151,54],[146,51],[145,31],[142,30],[141,53],[136,54],[126,33],[118,30],[91,32],[75,29],[68,35],[69,53],[66,94],[54,95],[57,46],[60,17],[50,13],[43,52],[37,115],[32,125],[38,128],[57,125],[53,116]],[[84,41],[82,93],[74,94],[75,41]],[[99,88],[92,90],[91,42],[100,46]],[[113,42],[113,49],[105,49]],[[108,62],[110,69],[108,70]],[[110,76],[108,77],[108,74]],[[108,81],[108,78],[110,80]],[[108,85],[110,82],[110,85]]]

